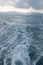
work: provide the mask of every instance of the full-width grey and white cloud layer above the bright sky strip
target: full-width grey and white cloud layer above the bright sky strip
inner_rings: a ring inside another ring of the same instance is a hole
[[[10,5],[18,8],[43,9],[43,0],[0,0],[0,5]]]

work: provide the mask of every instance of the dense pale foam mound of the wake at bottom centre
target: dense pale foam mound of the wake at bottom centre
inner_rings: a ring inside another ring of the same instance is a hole
[[[27,59],[27,60],[26,60]],[[20,60],[23,62],[23,65],[27,65],[27,63],[30,65],[30,58],[28,56],[28,53],[26,51],[26,47],[23,45],[18,45],[12,53],[12,65],[15,65],[15,61]],[[26,61],[28,61],[26,63]]]

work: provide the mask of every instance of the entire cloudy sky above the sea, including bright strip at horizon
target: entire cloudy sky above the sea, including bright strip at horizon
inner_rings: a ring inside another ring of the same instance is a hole
[[[0,0],[0,12],[43,13],[43,0]]]

